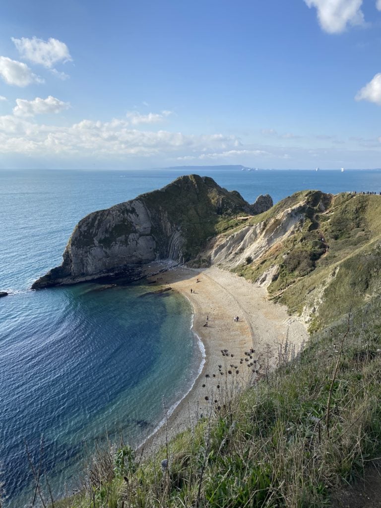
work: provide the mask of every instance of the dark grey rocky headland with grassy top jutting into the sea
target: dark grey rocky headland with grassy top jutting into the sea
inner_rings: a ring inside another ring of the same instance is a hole
[[[32,289],[115,274],[137,279],[143,264],[188,261],[198,255],[224,221],[271,206],[268,195],[250,205],[239,193],[228,192],[212,178],[182,176],[163,189],[80,220],[61,266],[38,279]]]

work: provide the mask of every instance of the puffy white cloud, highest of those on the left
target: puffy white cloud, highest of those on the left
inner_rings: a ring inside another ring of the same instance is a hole
[[[57,62],[71,61],[68,46],[57,39],[50,38],[47,41],[33,37],[27,39],[15,39],[12,37],[16,48],[23,58],[51,69]]]

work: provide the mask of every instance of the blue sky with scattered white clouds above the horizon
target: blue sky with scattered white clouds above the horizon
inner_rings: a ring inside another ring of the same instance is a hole
[[[0,12],[0,168],[381,168],[381,0]]]

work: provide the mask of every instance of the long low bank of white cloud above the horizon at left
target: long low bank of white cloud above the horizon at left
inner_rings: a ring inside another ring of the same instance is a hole
[[[36,113],[37,103],[30,102],[34,103],[32,108]],[[41,102],[38,104],[41,112]],[[22,110],[29,111],[29,107],[30,104],[25,106],[21,103]],[[235,136],[222,134],[187,135],[164,130],[138,130],[131,126],[129,120],[119,118],[108,122],[84,119],[70,126],[56,126],[38,124],[20,113],[0,116],[0,153],[176,157],[184,153],[234,150],[236,141]]]

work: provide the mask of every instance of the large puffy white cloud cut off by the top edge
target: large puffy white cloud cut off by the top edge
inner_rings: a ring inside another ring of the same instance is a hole
[[[339,34],[347,25],[363,25],[363,0],[304,0],[309,8],[315,7],[323,30]],[[377,7],[381,0],[377,0]]]

